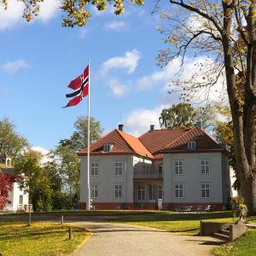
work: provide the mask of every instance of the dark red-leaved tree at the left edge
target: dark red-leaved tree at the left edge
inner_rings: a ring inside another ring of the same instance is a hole
[[[16,179],[15,175],[0,172],[0,211],[8,203],[9,191],[13,189]]]

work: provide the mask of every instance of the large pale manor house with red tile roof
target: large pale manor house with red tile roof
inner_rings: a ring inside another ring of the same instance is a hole
[[[226,148],[194,126],[150,130],[141,137],[123,125],[90,146],[90,196],[94,209],[204,207],[222,210],[230,201]],[[80,209],[85,209],[87,148],[81,158]]]

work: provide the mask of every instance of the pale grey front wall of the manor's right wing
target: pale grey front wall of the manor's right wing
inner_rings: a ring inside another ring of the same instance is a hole
[[[175,161],[183,162],[183,174],[175,174]],[[201,174],[201,160],[209,160],[210,173]],[[164,201],[211,203],[223,201],[221,153],[164,154]],[[210,184],[210,197],[202,198],[201,184]],[[183,184],[183,198],[175,197],[175,185]]]

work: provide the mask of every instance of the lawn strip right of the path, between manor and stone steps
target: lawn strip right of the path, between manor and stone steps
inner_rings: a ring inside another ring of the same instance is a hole
[[[232,222],[232,212],[209,212],[201,214],[177,214],[169,213],[155,217],[136,217],[136,218],[117,218],[113,222],[122,222],[129,224],[138,224],[167,230],[170,232],[183,232],[196,234],[200,230],[200,221],[217,221],[217,222]]]

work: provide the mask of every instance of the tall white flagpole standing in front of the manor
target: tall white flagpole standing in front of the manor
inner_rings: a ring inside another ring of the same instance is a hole
[[[88,113],[87,113],[87,188],[88,188],[88,203],[87,210],[90,211],[90,60],[88,61]]]

